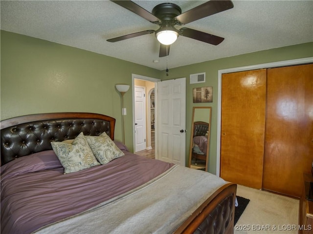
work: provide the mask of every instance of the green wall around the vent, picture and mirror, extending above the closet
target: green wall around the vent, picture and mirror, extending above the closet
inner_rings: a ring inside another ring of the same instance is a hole
[[[186,84],[186,162],[189,160],[190,133],[192,121],[193,106],[211,106],[211,136],[210,136],[210,158],[209,172],[216,174],[216,144],[217,144],[217,90],[218,90],[218,71],[228,68],[244,67],[256,64],[263,64],[276,61],[284,61],[291,59],[301,59],[313,57],[313,42],[281,47],[276,49],[264,50],[239,56],[233,56],[223,59],[210,60],[206,62],[191,64],[169,69],[169,76],[162,71],[160,78],[174,79],[187,78]],[[170,58],[169,58],[170,59]],[[190,74],[206,73],[206,82],[200,84],[189,84]],[[211,103],[193,103],[192,89],[195,87],[213,86],[213,102]]]

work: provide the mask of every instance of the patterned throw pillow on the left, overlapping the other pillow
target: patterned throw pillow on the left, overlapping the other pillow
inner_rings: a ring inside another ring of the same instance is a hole
[[[64,167],[65,174],[100,165],[83,133],[80,133],[71,144],[51,142],[51,146]]]

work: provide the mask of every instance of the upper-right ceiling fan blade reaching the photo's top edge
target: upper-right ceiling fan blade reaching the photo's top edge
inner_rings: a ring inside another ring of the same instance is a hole
[[[182,24],[186,24],[231,9],[233,7],[234,4],[230,0],[211,0],[182,13],[175,19]]]

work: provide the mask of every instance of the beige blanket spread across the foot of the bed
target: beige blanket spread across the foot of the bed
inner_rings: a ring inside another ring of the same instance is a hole
[[[137,189],[35,233],[172,233],[225,183],[212,174],[177,165]]]

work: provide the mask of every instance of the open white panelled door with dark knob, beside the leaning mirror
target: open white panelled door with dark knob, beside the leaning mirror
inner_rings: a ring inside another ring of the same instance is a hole
[[[186,78],[157,83],[157,159],[185,166]]]

